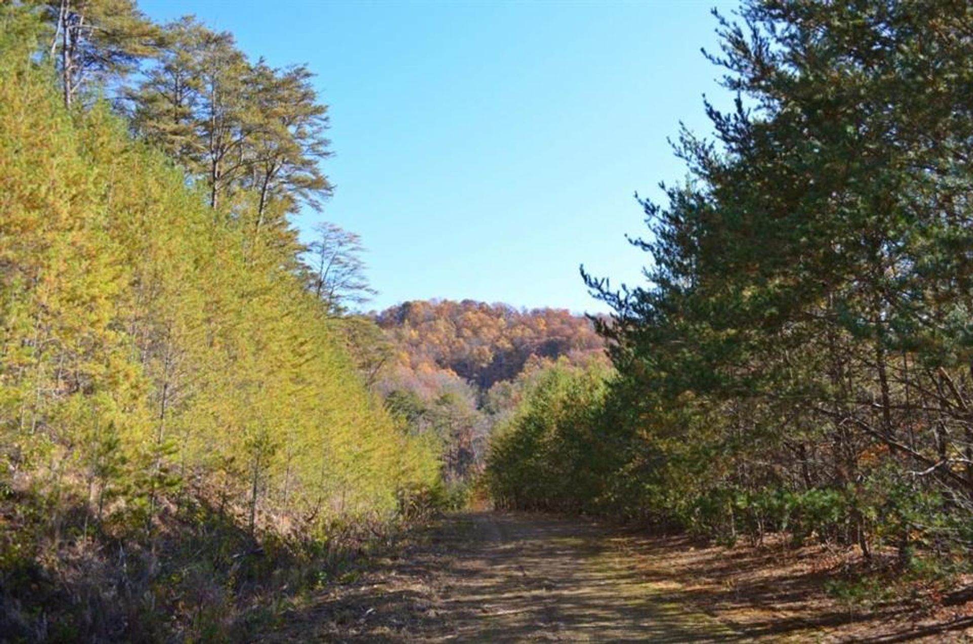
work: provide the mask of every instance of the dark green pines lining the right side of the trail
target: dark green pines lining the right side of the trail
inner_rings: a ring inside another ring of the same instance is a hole
[[[973,8],[717,18],[736,104],[705,105],[713,137],[674,142],[688,178],[640,200],[648,282],[583,271],[614,369],[540,378],[489,485],[510,508],[967,570]]]

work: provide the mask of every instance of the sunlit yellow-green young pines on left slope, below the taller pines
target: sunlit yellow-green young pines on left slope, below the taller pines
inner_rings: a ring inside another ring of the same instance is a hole
[[[150,525],[181,489],[291,528],[434,483],[296,277],[293,235],[255,235],[245,193],[210,208],[107,107],[69,114],[36,31],[0,14],[0,483]]]

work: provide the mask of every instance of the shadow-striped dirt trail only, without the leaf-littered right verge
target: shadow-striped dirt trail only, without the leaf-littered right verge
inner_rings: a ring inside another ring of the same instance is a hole
[[[738,639],[667,598],[583,519],[467,514],[261,641]]]

